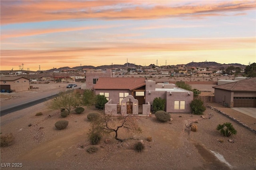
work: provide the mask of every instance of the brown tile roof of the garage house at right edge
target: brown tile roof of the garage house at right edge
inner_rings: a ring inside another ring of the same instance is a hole
[[[227,91],[256,91],[256,77],[235,81],[223,85],[216,85],[212,88],[222,89]]]

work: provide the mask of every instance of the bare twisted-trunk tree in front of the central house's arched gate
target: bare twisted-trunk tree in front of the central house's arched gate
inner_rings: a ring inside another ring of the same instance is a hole
[[[140,132],[138,121],[136,117],[131,115],[101,115],[98,119],[90,124],[90,134],[103,134],[115,132],[115,139],[124,142],[123,139],[118,138],[118,130],[124,128],[126,132]]]

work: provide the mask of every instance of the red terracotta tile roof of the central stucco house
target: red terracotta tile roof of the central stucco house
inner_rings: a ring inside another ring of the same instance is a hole
[[[146,85],[145,78],[137,77],[100,77],[94,89],[134,90]]]

